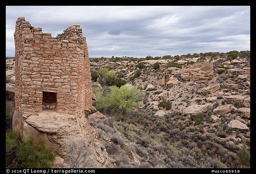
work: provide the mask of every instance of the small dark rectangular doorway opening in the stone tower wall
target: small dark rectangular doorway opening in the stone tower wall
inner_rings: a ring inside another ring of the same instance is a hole
[[[43,91],[43,110],[56,109],[57,93]]]

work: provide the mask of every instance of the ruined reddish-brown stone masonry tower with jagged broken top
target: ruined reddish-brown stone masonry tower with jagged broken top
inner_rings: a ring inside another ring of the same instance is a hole
[[[23,135],[24,113],[44,109],[83,116],[92,105],[92,87],[88,48],[80,25],[72,25],[54,38],[19,17],[14,39],[13,128]]]

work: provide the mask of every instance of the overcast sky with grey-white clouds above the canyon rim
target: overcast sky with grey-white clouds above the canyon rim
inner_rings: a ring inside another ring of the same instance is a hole
[[[16,20],[53,37],[80,24],[89,57],[250,50],[250,6],[6,6],[6,56]]]

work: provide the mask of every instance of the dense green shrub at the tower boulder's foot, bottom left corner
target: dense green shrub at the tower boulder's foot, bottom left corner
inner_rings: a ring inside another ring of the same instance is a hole
[[[23,140],[14,131],[6,131],[5,139],[6,167],[51,168],[53,166],[56,153],[53,149],[47,148],[43,141],[34,143],[32,138]]]

